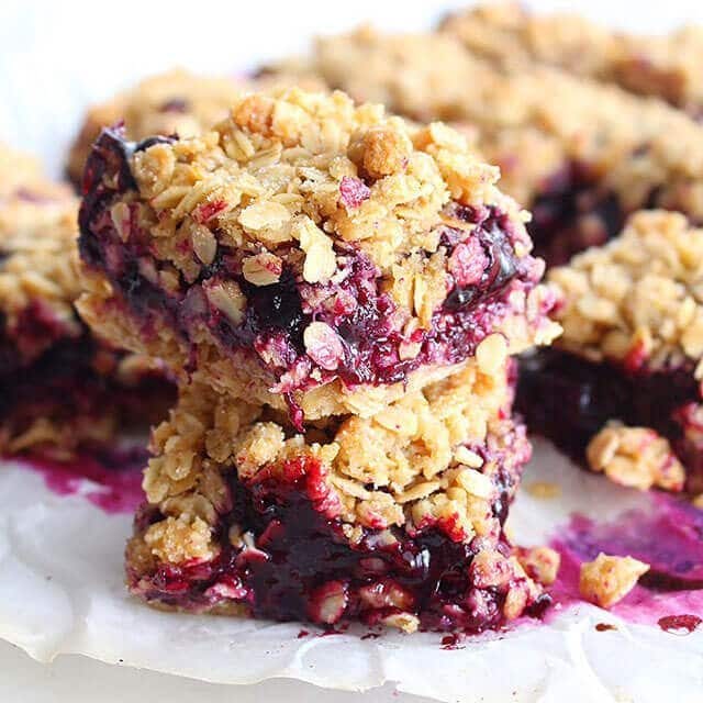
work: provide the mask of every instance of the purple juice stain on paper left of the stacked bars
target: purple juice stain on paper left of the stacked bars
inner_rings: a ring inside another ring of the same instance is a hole
[[[82,453],[69,461],[32,456],[20,466],[40,473],[46,488],[58,495],[82,495],[110,514],[133,513],[144,501],[142,469],[147,459],[141,447]]]

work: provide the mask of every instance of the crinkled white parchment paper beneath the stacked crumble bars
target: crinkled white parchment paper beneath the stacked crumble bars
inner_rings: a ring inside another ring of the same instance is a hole
[[[611,518],[645,500],[545,446],[525,477],[534,481],[559,483],[561,495],[522,492],[511,515],[522,544],[548,539],[572,511]],[[361,639],[366,631],[321,637],[308,627],[299,638],[297,624],[157,612],[123,588],[130,523],[80,494],[51,492],[26,468],[0,467],[0,637],[42,661],[81,654],[220,683],[290,677],[367,690],[392,681],[403,692],[460,702],[703,700],[701,628],[677,636],[587,604],[454,650],[437,634]],[[617,629],[598,632],[603,622]]]

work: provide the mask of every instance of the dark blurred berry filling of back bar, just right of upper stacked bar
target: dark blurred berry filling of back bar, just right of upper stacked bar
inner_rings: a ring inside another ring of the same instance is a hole
[[[527,230],[535,253],[548,266],[561,266],[574,254],[605,244],[622,230],[627,214],[593,169],[576,161],[543,183],[531,211]]]

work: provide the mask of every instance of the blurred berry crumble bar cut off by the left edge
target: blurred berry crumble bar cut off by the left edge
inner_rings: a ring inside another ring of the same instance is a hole
[[[107,443],[121,419],[144,419],[140,408],[159,405],[152,393],[170,394],[144,360],[98,343],[76,314],[70,189],[4,146],[0,164],[0,450],[67,458]]]

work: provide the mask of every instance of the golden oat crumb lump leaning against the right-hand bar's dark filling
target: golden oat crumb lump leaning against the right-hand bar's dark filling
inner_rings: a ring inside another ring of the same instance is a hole
[[[680,491],[685,470],[669,440],[648,427],[609,425],[585,449],[592,471],[602,471],[615,483],[647,490]]]

